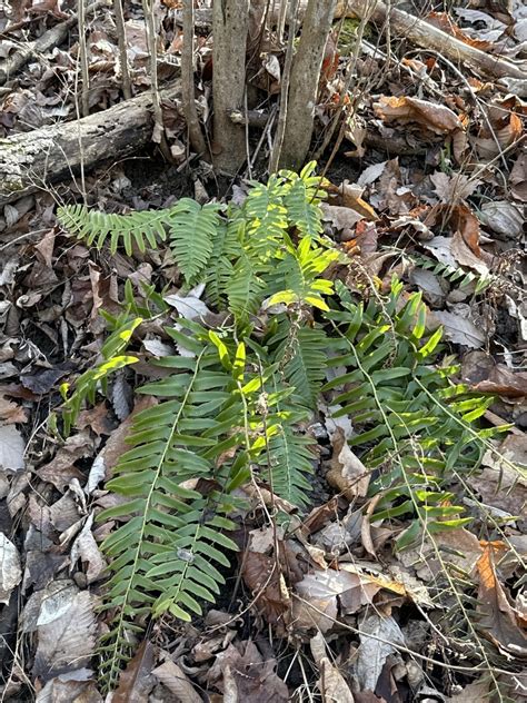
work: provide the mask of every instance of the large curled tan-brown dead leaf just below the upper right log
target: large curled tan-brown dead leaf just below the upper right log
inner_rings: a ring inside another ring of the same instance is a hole
[[[404,125],[414,122],[436,135],[463,130],[460,119],[450,108],[418,98],[381,96],[374,105],[374,109],[376,115],[386,122],[398,121]]]

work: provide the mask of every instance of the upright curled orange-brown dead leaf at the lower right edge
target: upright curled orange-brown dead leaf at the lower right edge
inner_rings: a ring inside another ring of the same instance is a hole
[[[495,558],[495,547],[488,544],[476,564],[479,577],[478,625],[500,651],[527,659],[527,636],[519,628],[516,613],[498,581]]]

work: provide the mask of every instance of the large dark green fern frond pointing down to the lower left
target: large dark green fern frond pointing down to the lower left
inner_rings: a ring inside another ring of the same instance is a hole
[[[109,687],[129,654],[126,642],[137,614],[147,606],[156,615],[170,612],[189,620],[191,612],[200,612],[196,596],[213,601],[223,582],[218,567],[228,560],[222,549],[236,549],[221,532],[232,526],[221,518],[221,505],[206,517],[210,502],[220,503],[221,497],[217,492],[202,496],[185,485],[216,474],[213,455],[206,456],[203,449],[218,446],[219,423],[211,420],[201,436],[191,434],[189,426],[228,403],[231,378],[221,372],[202,373],[206,347],[196,359],[185,360],[188,370],[141,389],[162,400],[137,415],[129,437],[132,448],[120,457],[107,484],[127,502],[99,516],[131,516],[102,545],[113,572],[107,607],[116,612],[102,651]]]

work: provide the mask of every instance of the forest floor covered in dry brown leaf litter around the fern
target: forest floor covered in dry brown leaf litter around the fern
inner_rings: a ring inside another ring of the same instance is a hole
[[[155,6],[161,81],[178,75],[178,4]],[[449,2],[448,16],[440,2],[405,3],[425,17],[415,4],[438,10],[429,21],[463,41],[527,66],[524,3]],[[68,0],[0,2],[0,61],[72,13]],[[125,2],[125,19],[138,95],[150,87],[141,4]],[[336,22],[339,38],[317,107],[318,143],[356,28]],[[122,100],[111,10],[97,10],[88,29],[90,110],[98,112]],[[199,101],[209,119],[207,28],[198,40]],[[32,55],[2,81],[0,137],[77,119],[78,53],[73,26],[60,44]],[[279,67],[282,52],[271,56]],[[255,71],[252,90],[269,110],[279,73],[268,59],[266,66]],[[527,700],[525,95],[397,36],[387,47],[369,27],[356,75],[342,145],[329,164],[329,150],[319,162],[319,172],[328,166],[331,184],[325,231],[380,293],[397,276],[405,291],[422,294],[429,324],[444,327],[445,358],[459,364],[457,379],[493,397],[481,423],[509,424],[493,439],[507,462],[486,453],[463,486],[453,482],[470,523],[435,534],[434,548],[425,535],[417,547],[397,552],[395,538],[410,518],[370,524],[372,496],[351,498],[328,482],[331,468],[342,468],[342,444],[330,418],[314,408],[306,427],[319,445],[311,504],[297,516],[301,529],[297,523],[292,533],[280,533],[288,558],[296,555],[295,568],[301,563],[290,587],[307,611],[312,606],[309,617],[297,612],[280,627],[269,613],[282,584],[259,588],[250,577],[248,562],[261,568],[272,563],[276,538],[257,507],[240,521],[246,546],[216,605],[191,623],[171,616],[151,622],[118,691],[105,697],[96,650],[106,623],[98,611],[107,567],[99,545],[108,529],[95,518],[111,503],[103,482],[126,448],[145,362],[167,345],[162,325],[135,335],[131,350],[140,363],[115,376],[67,438],[59,387],[74,386],[93,366],[106,338],[99,313],[120,310],[127,280],[138,298],[141,281],[170,295],[181,280],[168,251],[98,250],[69,236],[56,214],[83,199],[107,212],[166,208],[183,196],[239,199],[249,176],[266,180],[266,140],[250,174],[232,179],[188,158],[172,101],[165,119],[173,164],[151,142],[82,178],[46,182],[0,211],[0,701]],[[260,136],[251,131],[251,154]],[[360,297],[360,287],[354,295]],[[161,321],[175,319],[176,310]],[[346,568],[335,570],[336,562]]]

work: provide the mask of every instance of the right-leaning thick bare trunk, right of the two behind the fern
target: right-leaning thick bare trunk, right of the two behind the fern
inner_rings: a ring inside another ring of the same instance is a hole
[[[336,0],[309,0],[291,71],[280,166],[298,170],[311,143],[318,81]]]

